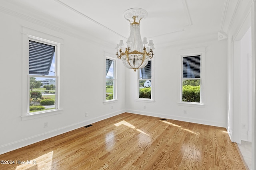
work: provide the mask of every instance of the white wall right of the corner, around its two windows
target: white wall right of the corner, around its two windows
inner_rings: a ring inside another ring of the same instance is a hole
[[[216,37],[217,39],[217,37]],[[227,113],[227,41],[211,41],[201,44],[180,45],[155,51],[154,58],[154,103],[136,102],[136,73],[126,72],[126,109],[128,112],[152,115],[226,127]],[[204,106],[179,104],[180,94],[180,49],[206,47],[204,74]],[[167,86],[166,84],[169,84]],[[146,109],[144,109],[146,106]],[[186,110],[186,114],[184,114]]]

